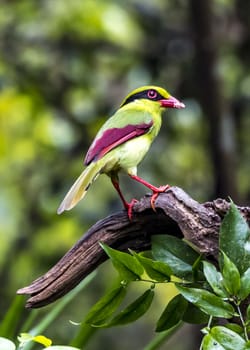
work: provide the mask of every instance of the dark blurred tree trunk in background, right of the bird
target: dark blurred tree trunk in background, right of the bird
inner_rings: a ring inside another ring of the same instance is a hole
[[[208,119],[214,171],[214,197],[239,201],[236,188],[235,135],[230,105],[224,100],[216,73],[213,2],[190,0],[190,20],[195,46],[194,81],[197,97]]]

